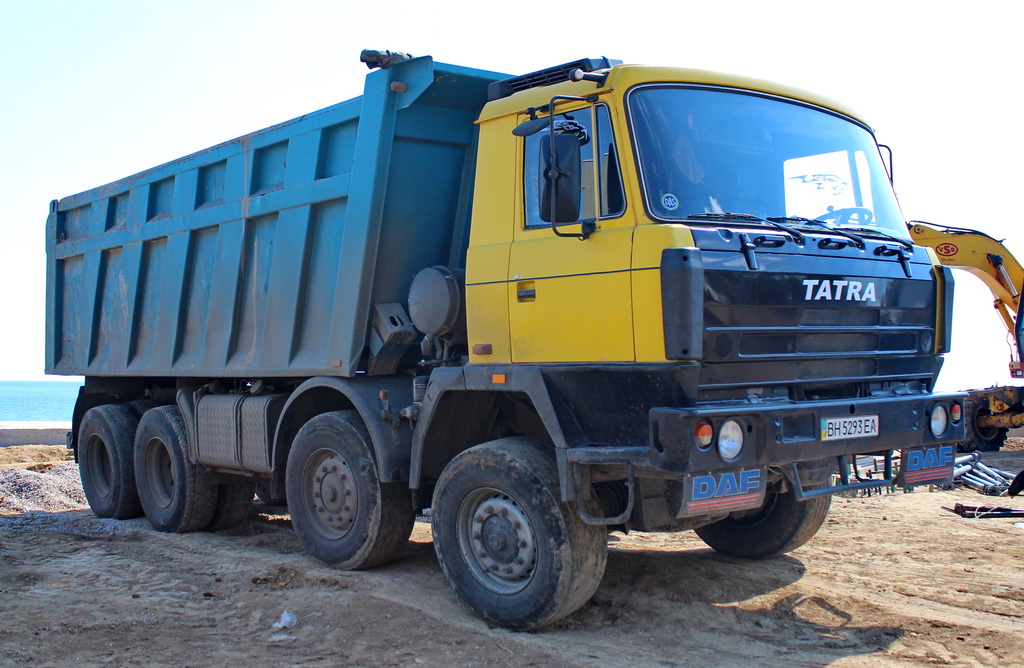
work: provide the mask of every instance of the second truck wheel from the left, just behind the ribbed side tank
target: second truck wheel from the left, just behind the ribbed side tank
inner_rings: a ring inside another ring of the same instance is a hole
[[[146,411],[135,434],[135,478],[154,529],[183,534],[210,525],[217,488],[201,483],[197,473],[181,412],[173,406]]]

